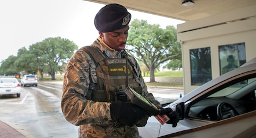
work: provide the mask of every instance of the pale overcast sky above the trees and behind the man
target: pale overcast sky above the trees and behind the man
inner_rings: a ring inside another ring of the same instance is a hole
[[[83,0],[12,0],[0,1],[0,62],[17,56],[20,48],[49,37],[67,38],[81,48],[99,37],[94,17],[105,5]],[[148,24],[182,24],[184,21],[132,11],[132,19]]]

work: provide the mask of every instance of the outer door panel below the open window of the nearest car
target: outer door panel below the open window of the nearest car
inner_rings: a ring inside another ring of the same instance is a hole
[[[256,111],[163,137],[255,137]]]

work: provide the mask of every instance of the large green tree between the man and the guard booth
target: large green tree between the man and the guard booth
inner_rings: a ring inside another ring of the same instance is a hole
[[[167,26],[147,24],[147,21],[134,19],[131,22],[127,41],[128,52],[135,53],[138,61],[143,61],[150,71],[150,82],[155,82],[154,71],[160,64],[180,58],[181,44],[177,42],[176,29]]]

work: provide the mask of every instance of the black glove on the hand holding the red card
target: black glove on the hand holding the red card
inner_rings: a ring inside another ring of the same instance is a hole
[[[159,115],[163,115],[166,114],[170,120],[167,121],[167,124],[172,124],[172,127],[176,127],[177,123],[179,122],[179,117],[177,116],[177,112],[173,111],[170,108],[166,108],[166,109],[161,109]]]

